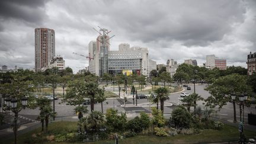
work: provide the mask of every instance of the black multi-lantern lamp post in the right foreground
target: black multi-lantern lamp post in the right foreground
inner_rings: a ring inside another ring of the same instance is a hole
[[[245,101],[247,100],[248,98],[248,95],[247,93],[242,93],[241,95],[235,95],[235,94],[232,94],[231,95],[231,98],[232,100],[234,101],[236,96],[238,96],[239,98],[239,114],[240,114],[240,123],[239,123],[239,132],[240,132],[240,137],[239,137],[239,143],[245,143],[246,141],[246,138],[245,138],[245,135],[244,135],[244,103]]]

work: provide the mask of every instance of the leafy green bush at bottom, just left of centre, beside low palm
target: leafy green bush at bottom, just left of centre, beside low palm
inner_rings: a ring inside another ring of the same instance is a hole
[[[105,119],[107,120],[107,127],[111,132],[122,132],[126,127],[126,114],[121,113],[119,116],[119,114],[117,114],[117,110],[114,110],[113,108],[107,109]]]

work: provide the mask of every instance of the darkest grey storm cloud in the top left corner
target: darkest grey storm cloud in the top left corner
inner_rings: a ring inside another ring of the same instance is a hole
[[[1,0],[0,18],[16,18],[40,23],[45,17],[44,4],[48,0]]]

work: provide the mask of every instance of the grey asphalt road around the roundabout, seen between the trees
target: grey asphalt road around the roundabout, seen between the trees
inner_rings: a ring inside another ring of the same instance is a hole
[[[191,90],[186,90],[186,88],[185,88],[185,92],[192,94],[194,92],[194,87],[193,87],[193,85],[188,85],[188,86],[191,87]],[[207,98],[210,96],[210,94],[209,94],[209,92],[205,91],[204,88],[206,88],[205,85],[196,85],[196,93],[201,95],[201,97],[203,97],[203,98]],[[169,95],[169,100],[167,100],[167,102],[172,103],[174,105],[180,104],[180,93],[181,92],[178,92],[177,94]],[[132,104],[132,103],[133,103],[132,98],[129,98],[126,104]],[[137,104],[143,104],[143,103],[148,103],[148,100],[147,99],[138,99],[137,100]],[[203,105],[204,102],[198,101],[197,103],[199,105]],[[107,110],[107,108],[115,108],[116,110],[119,110],[119,112],[126,111],[127,114],[132,114],[132,113],[138,114],[141,111],[150,113],[149,107],[126,107],[126,108],[123,108],[123,107],[120,107],[121,104],[123,104],[123,100],[120,98],[108,99],[108,100],[104,101],[104,103],[103,103],[104,112]],[[66,105],[66,103],[61,103],[61,100],[55,101],[55,111],[57,112],[57,118],[76,117],[75,111],[73,110],[74,108],[75,108],[74,105]],[[164,108],[165,117],[170,116],[173,108],[174,108],[174,106]],[[101,111],[101,104],[100,103],[95,104],[94,109],[97,111]],[[90,105],[88,105],[88,110],[90,111]],[[191,110],[193,110],[193,108],[191,108]],[[256,113],[255,108],[245,107],[245,122],[247,122],[247,114],[248,113]],[[31,109],[26,108],[25,110],[21,110],[21,112],[19,114],[21,116],[24,116],[25,119],[36,120],[37,116],[39,115],[39,109],[36,108],[34,110],[31,110]],[[233,120],[233,105],[231,103],[228,103],[220,111],[217,111],[217,114],[215,115],[215,117],[217,117],[219,119],[223,119],[223,120],[232,121]],[[237,120],[239,121],[239,105],[236,105],[236,117],[237,117]],[[8,117],[8,119],[11,119],[11,118]],[[29,123],[30,120],[25,121],[24,123]],[[31,121],[31,122],[33,122],[33,121]]]

